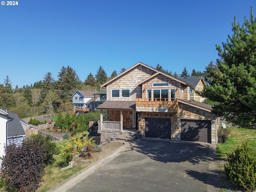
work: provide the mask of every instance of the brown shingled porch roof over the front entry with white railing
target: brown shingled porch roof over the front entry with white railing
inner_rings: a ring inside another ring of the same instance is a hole
[[[136,101],[105,101],[96,109],[102,110],[135,110]]]

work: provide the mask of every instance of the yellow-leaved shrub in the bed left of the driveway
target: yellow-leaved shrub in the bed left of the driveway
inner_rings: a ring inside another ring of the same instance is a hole
[[[84,140],[84,142],[83,142]],[[76,154],[79,154],[81,149],[85,146],[93,146],[95,141],[93,138],[88,139],[88,136],[85,136],[84,139],[78,138],[76,139],[74,136],[70,137],[70,142],[66,143],[66,146],[63,146],[62,157],[65,159],[66,163],[72,160],[72,156],[74,153],[74,145],[76,145]]]

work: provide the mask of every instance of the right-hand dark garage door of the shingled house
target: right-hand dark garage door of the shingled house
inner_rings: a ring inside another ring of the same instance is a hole
[[[183,141],[211,143],[211,121],[181,119],[180,137]]]

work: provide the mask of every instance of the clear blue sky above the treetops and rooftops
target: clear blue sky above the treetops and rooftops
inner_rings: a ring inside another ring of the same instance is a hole
[[[6,1],[5,1],[6,2]],[[70,66],[84,81],[138,62],[181,74],[216,61],[215,45],[249,18],[255,0],[18,0],[0,5],[0,83],[43,80]],[[254,13],[256,16],[256,11]]]

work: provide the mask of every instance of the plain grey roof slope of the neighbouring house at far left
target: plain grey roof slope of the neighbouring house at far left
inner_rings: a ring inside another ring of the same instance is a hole
[[[20,118],[16,113],[9,113],[8,116],[13,118],[12,121],[8,122],[7,137],[25,136],[24,129],[21,125]]]

